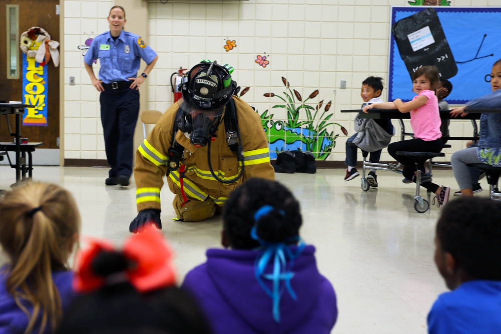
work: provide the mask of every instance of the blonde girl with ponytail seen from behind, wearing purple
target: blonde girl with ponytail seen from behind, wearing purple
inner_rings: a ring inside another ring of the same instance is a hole
[[[0,202],[0,334],[52,333],[75,297],[68,259],[78,247],[80,214],[55,184],[29,183]]]

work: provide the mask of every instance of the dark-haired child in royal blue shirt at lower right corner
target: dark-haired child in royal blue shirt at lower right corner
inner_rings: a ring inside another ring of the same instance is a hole
[[[481,215],[481,218],[479,216]],[[438,219],[435,264],[452,291],[428,314],[429,334],[501,332],[501,202],[462,197]]]

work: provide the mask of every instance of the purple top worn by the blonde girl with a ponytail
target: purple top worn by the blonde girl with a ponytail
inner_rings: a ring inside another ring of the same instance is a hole
[[[6,275],[6,267],[0,268],[0,334],[23,334],[28,327],[28,316],[16,304],[12,294],[7,292],[8,275]],[[52,274],[54,284],[58,288],[61,297],[63,312],[68,309],[71,301],[75,297],[71,284],[73,280],[73,271],[58,271]],[[29,303],[24,303],[28,310],[33,311],[33,307]],[[40,321],[35,325],[33,333],[40,331]],[[52,333],[49,323],[44,334]]]

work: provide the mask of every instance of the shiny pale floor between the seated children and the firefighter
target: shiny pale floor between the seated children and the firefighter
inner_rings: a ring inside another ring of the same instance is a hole
[[[106,187],[107,173],[104,168],[36,166],[34,180],[58,183],[73,193],[81,210],[82,237],[121,244],[136,215],[135,186]],[[320,271],[337,292],[339,318],[333,332],[425,333],[428,310],[446,290],[432,259],[440,209],[414,211],[415,188],[403,184],[399,174],[379,171],[380,187],[368,192],[361,190],[360,177],[345,182],[344,174],[339,169],[277,174],[300,199],[302,237],[317,247]],[[8,188],[13,179],[14,170],[0,166],[0,188]],[[433,180],[450,186],[451,195],[458,190],[450,170],[434,171]],[[204,260],[206,248],[219,247],[221,221],[172,222],[168,187],[161,197],[163,232],[176,252],[181,281]]]

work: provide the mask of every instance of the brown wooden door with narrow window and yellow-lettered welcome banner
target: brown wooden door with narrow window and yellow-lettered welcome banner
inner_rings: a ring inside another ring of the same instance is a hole
[[[59,164],[60,67],[55,67],[51,59],[43,68],[40,68],[40,65],[34,68],[35,63],[32,64],[31,69],[37,71],[32,71],[31,74],[29,74],[30,68],[23,70],[20,39],[22,34],[32,27],[40,27],[50,35],[52,41],[61,43],[59,3],[60,0],[0,0],[0,25],[3,25],[0,29],[2,32],[0,33],[0,100],[22,101],[29,104],[35,104],[38,101],[39,104],[45,104],[46,121],[41,123],[44,125],[27,125],[28,123],[37,124],[37,121],[25,122],[27,124],[21,126],[21,137],[28,138],[29,142],[43,142],[44,145],[40,147],[44,149],[43,156],[54,156],[57,152],[55,164]],[[61,48],[57,50],[61,52]],[[30,62],[27,64],[30,66]],[[43,79],[41,73],[44,74]],[[36,85],[43,84],[43,98],[32,96],[27,99],[24,96],[24,88],[28,87],[26,83],[30,81],[36,82]],[[25,110],[26,113],[27,110]],[[0,141],[12,141],[13,137],[9,133],[6,117],[1,117]],[[14,129],[14,117],[9,116],[9,121]],[[34,163],[37,162],[39,161],[34,158]]]

